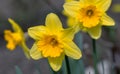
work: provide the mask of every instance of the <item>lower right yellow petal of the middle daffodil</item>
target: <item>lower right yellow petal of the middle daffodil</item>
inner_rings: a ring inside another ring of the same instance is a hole
[[[82,57],[80,49],[74,44],[73,41],[66,41],[63,44],[64,52],[67,56],[73,59],[80,59]]]

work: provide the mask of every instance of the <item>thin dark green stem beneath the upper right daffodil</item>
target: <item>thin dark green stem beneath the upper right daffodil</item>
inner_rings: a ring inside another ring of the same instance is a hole
[[[95,39],[92,39],[92,45],[93,45],[93,60],[94,60],[94,69],[95,69],[95,74],[98,74],[98,71],[97,71],[96,40],[95,40]]]

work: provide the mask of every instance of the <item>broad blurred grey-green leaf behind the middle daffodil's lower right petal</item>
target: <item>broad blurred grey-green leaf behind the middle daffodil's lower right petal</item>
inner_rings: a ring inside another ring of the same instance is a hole
[[[82,34],[78,32],[75,35],[75,43],[81,49],[83,49],[83,38]],[[73,60],[69,58],[71,74],[85,74],[84,62],[81,58],[80,60]]]

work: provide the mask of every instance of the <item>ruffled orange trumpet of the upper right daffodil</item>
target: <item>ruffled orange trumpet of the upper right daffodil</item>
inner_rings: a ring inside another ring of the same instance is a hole
[[[83,27],[92,28],[99,24],[102,12],[94,5],[89,5],[80,9],[78,19],[83,23]]]

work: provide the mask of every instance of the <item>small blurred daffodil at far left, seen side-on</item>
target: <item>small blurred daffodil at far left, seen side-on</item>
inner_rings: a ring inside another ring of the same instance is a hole
[[[25,44],[24,32],[14,20],[9,18],[8,21],[11,23],[14,32],[10,30],[4,31],[4,38],[8,42],[6,47],[12,51],[19,45],[23,48],[26,57],[29,58],[29,49]]]

